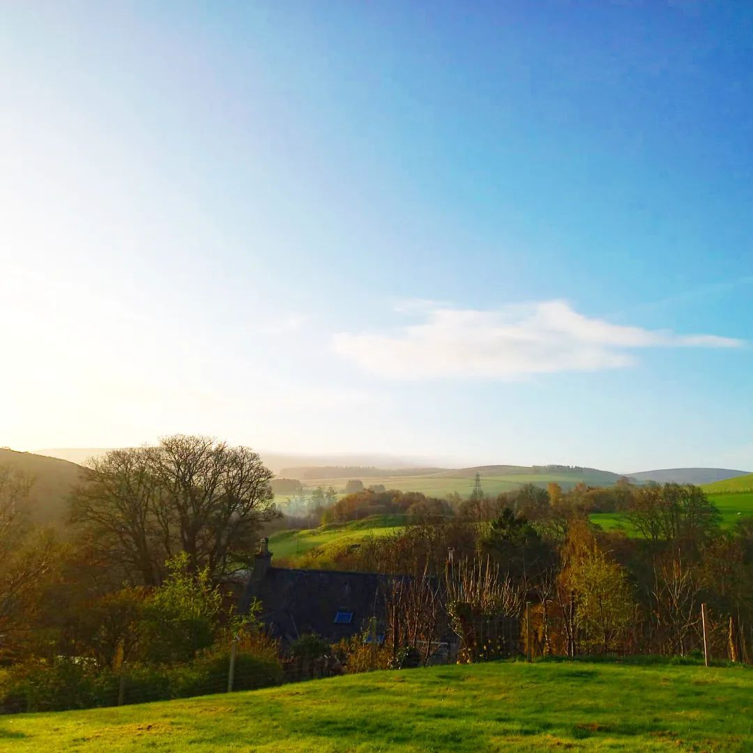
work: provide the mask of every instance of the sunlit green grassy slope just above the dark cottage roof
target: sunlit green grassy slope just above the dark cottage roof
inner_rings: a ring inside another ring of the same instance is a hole
[[[270,551],[275,559],[288,559],[305,554],[315,547],[341,547],[368,535],[385,535],[400,529],[404,515],[371,515],[352,523],[330,523],[306,531],[279,531],[270,536]]]

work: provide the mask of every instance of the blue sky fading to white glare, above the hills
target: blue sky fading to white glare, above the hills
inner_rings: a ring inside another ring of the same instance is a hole
[[[753,471],[753,6],[0,18],[0,445]]]

